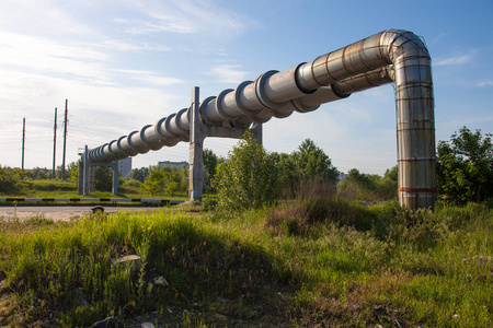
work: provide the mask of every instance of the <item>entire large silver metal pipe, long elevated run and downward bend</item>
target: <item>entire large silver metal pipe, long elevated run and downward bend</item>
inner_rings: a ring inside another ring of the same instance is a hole
[[[397,95],[399,199],[411,209],[436,200],[435,119],[431,57],[411,32],[388,30],[284,71],[268,71],[205,98],[200,118],[209,126],[249,127],[293,112],[308,113],[354,92],[393,82]],[[107,162],[190,140],[190,109],[92,149]]]

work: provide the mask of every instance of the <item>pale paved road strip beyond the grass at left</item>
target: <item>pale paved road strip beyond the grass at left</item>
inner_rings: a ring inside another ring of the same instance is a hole
[[[15,216],[19,220],[25,220],[37,215],[43,215],[46,219],[65,220],[68,221],[73,218],[82,218],[85,214],[92,213],[91,209],[94,206],[80,207],[0,207],[0,219],[12,220]],[[157,208],[149,207],[104,207],[105,212],[116,211],[151,211]]]

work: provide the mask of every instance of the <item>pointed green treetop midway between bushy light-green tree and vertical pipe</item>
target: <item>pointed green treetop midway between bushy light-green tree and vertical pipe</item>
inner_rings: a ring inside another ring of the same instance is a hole
[[[336,183],[339,171],[332,165],[331,159],[311,139],[306,139],[298,151],[293,153],[297,175],[303,179],[319,178]]]

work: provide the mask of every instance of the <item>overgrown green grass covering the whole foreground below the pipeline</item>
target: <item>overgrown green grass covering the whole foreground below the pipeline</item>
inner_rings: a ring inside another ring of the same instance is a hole
[[[238,215],[2,221],[0,326],[491,327],[493,267],[473,257],[493,255],[492,231],[486,204],[411,212],[333,195]],[[129,254],[144,265],[113,269]]]

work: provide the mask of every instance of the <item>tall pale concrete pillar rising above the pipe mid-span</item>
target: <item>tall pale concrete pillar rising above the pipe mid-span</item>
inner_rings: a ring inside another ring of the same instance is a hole
[[[190,161],[188,196],[190,200],[202,200],[204,172],[205,132],[198,113],[199,90],[192,89],[192,107],[190,112]]]

